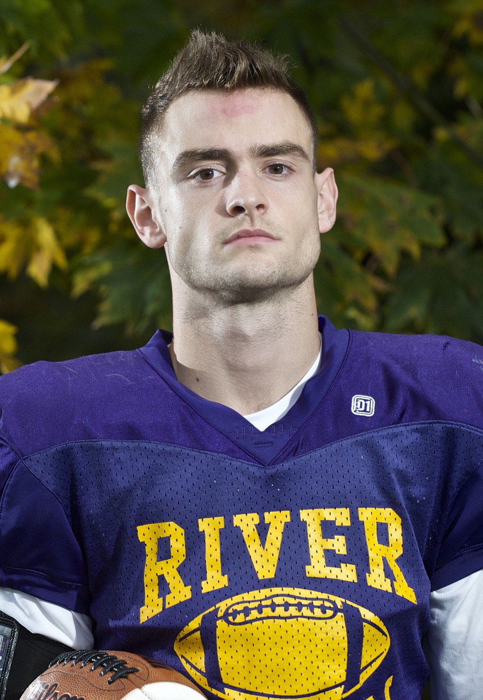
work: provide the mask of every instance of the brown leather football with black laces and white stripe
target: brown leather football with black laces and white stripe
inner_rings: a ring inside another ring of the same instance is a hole
[[[120,700],[128,693],[130,700],[165,700],[166,682],[185,685],[204,698],[184,675],[138,654],[65,652],[31,682],[20,700]]]

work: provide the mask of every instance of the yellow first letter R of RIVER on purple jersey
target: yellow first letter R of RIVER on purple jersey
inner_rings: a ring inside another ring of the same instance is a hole
[[[144,605],[139,610],[142,622],[162,611],[163,598],[160,598],[159,577],[164,576],[169,586],[165,605],[181,603],[191,598],[191,586],[185,586],[178,573],[178,567],[186,559],[185,533],[174,522],[140,525],[137,528],[139,542],[146,545],[146,565],[144,566]],[[171,556],[158,561],[158,540],[169,537]]]

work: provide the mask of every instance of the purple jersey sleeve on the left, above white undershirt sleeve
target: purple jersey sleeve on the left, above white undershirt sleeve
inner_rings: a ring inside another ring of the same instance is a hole
[[[69,514],[0,442],[0,586],[88,612],[87,574]]]

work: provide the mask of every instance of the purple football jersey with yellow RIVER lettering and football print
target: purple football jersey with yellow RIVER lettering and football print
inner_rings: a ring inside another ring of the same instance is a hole
[[[320,328],[262,433],[178,384],[160,332],[2,379],[1,585],[209,698],[418,697],[430,588],[482,568],[483,351]]]

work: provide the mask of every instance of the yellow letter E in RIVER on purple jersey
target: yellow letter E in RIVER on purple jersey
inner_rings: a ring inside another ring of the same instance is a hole
[[[350,525],[349,508],[314,508],[301,510],[300,519],[307,522],[310,566],[305,567],[307,576],[314,578],[337,578],[342,581],[357,581],[356,567],[341,562],[340,566],[327,566],[324,549],[334,549],[337,554],[346,554],[346,538],[335,535],[327,540],[322,537],[321,521],[333,520],[336,525]]]

